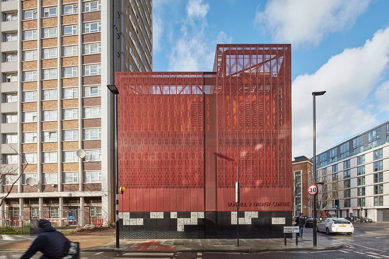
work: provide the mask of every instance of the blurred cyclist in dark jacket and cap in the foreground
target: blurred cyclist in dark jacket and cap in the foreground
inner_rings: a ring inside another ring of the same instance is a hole
[[[50,221],[40,220],[38,230],[39,235],[20,259],[29,259],[38,251],[43,253],[39,259],[62,259],[68,254],[70,241]]]

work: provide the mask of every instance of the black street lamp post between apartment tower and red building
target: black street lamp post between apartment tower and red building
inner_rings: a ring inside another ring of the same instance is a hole
[[[113,93],[113,121],[114,121],[114,136],[115,136],[115,183],[114,183],[114,189],[115,189],[115,204],[114,204],[114,211],[116,211],[116,248],[119,248],[119,174],[118,174],[118,94],[119,90],[116,87],[116,85],[107,85],[109,91]]]

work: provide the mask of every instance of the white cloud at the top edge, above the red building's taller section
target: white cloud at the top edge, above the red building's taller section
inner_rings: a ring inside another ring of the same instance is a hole
[[[255,23],[275,41],[318,45],[324,35],[352,26],[371,0],[268,0]]]

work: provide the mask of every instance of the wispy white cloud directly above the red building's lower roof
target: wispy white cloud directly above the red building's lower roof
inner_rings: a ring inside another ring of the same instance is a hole
[[[225,32],[213,35],[208,30],[206,16],[209,9],[209,4],[202,3],[202,0],[190,0],[187,3],[187,16],[181,25],[181,34],[178,38],[172,38],[174,45],[168,55],[170,71],[210,71],[213,68],[216,43],[231,42],[232,38]]]

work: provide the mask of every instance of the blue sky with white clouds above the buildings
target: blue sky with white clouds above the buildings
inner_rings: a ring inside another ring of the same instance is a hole
[[[388,0],[154,0],[153,70],[210,71],[216,43],[292,44],[293,156],[389,120]]]

